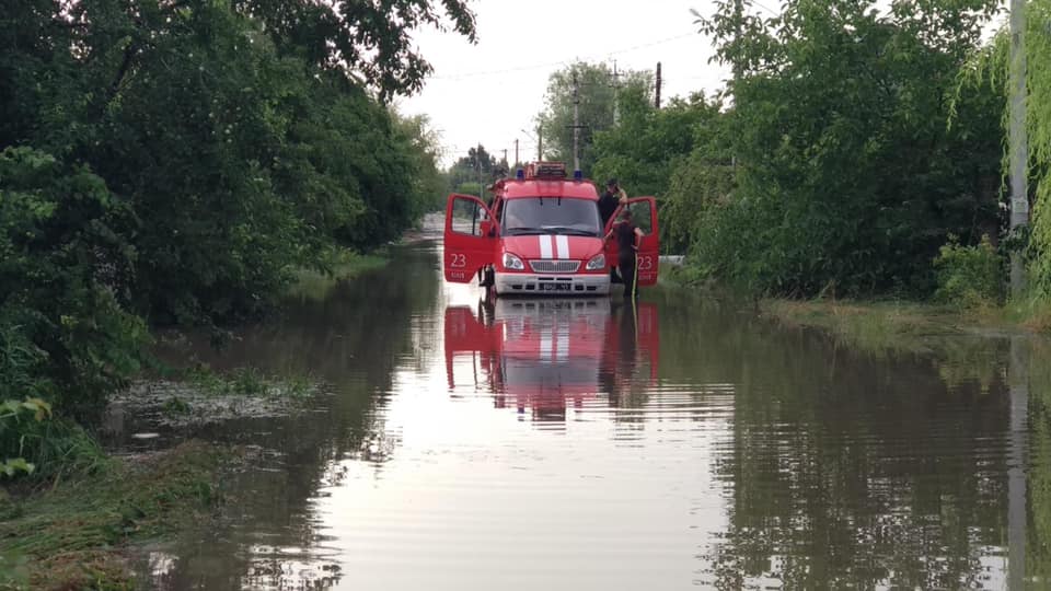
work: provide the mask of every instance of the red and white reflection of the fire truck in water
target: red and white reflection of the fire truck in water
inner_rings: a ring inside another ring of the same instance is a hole
[[[569,405],[656,381],[657,309],[608,299],[498,299],[446,309],[449,387],[489,390],[497,407],[564,420]],[[600,398],[602,397],[602,398]]]

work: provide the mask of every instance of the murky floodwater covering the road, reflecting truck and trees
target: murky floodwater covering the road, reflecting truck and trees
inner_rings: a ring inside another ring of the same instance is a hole
[[[1048,347],[865,350],[670,288],[486,304],[440,256],[184,345],[332,394],[195,433],[257,459],[149,587],[1051,586]]]

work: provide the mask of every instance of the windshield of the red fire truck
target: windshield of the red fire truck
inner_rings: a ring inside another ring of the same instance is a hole
[[[599,207],[588,199],[526,197],[504,206],[504,235],[568,234],[600,236]]]

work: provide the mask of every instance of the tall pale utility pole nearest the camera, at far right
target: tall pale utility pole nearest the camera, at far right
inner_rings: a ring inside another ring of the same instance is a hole
[[[1029,225],[1029,144],[1026,138],[1026,0],[1010,0],[1010,234]],[[1026,264],[1017,250],[1010,253],[1010,297],[1026,289]]]

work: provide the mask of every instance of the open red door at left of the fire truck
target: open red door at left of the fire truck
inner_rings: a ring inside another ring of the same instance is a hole
[[[449,196],[446,204],[446,280],[470,283],[478,269],[492,265],[496,256],[496,222],[489,208],[473,195]]]

